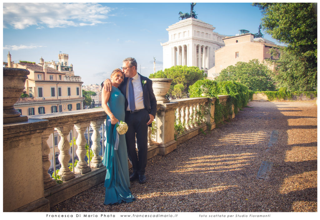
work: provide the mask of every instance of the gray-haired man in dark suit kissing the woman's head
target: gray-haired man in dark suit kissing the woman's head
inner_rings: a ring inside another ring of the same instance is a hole
[[[128,131],[125,134],[125,139],[128,157],[133,169],[130,181],[138,179],[139,183],[145,183],[147,181],[145,171],[148,153],[148,126],[152,126],[156,116],[156,97],[153,93],[152,81],[137,72],[137,61],[134,58],[129,57],[123,60],[122,72],[125,78],[119,89],[126,97],[124,121],[128,124]],[[104,83],[108,85],[108,82],[107,79]],[[106,89],[111,90],[111,86],[106,86]]]

